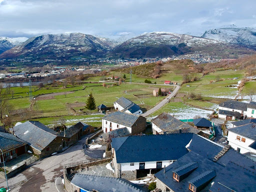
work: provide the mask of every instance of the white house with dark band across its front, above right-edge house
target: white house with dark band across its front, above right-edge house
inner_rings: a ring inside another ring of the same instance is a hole
[[[247,104],[236,100],[227,100],[218,105],[218,118],[226,120],[244,119],[247,112]]]

